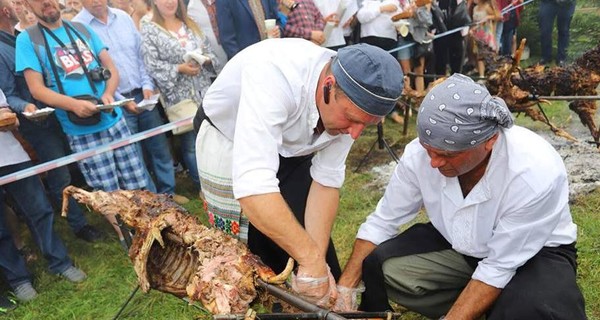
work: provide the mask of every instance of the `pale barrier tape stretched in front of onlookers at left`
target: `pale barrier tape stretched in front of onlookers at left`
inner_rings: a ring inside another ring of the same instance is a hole
[[[23,169],[21,171],[13,172],[11,174],[0,177],[0,186],[3,186],[5,184],[11,183],[11,182],[15,182],[17,180],[21,180],[21,179],[24,179],[27,177],[38,175],[40,173],[50,171],[50,170],[56,169],[58,167],[66,166],[70,163],[77,162],[79,160],[83,160],[83,159],[86,159],[89,157],[93,157],[95,155],[98,155],[98,154],[101,154],[101,153],[104,153],[107,151],[111,151],[111,150],[126,146],[128,144],[132,144],[132,143],[153,137],[155,135],[159,135],[159,134],[167,132],[167,131],[171,131],[178,127],[189,125],[192,123],[193,119],[194,119],[194,117],[189,117],[189,118],[182,119],[179,121],[170,122],[170,123],[164,124],[162,126],[152,128],[152,129],[149,129],[146,131],[142,131],[142,132],[133,134],[131,136],[125,137],[123,139],[113,141],[113,142],[105,144],[105,145],[101,145],[101,146],[98,146],[98,147],[95,147],[92,149],[88,149],[85,151],[81,151],[78,153],[70,154],[68,156],[58,158],[58,159],[55,159],[52,161],[44,162],[44,163],[38,164],[36,166],[30,167],[27,169]]]

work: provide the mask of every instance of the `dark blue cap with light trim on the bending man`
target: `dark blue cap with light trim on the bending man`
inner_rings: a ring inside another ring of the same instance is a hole
[[[404,87],[398,61],[387,51],[364,43],[341,48],[331,61],[331,71],[346,96],[373,116],[390,113]]]

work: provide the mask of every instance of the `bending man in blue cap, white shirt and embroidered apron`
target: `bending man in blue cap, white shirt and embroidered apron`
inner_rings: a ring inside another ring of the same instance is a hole
[[[402,76],[370,45],[336,55],[271,39],[231,59],[204,97],[196,152],[210,223],[276,272],[294,258],[294,288],[321,305],[332,303],[331,275],[341,273],[330,232],[346,157],[394,108]]]

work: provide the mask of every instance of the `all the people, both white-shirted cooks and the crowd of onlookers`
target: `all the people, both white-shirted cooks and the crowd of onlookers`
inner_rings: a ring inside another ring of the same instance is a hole
[[[384,311],[392,300],[433,318],[584,319],[560,157],[513,126],[504,101],[460,74],[467,34],[512,54],[522,8],[503,9],[521,2],[0,0],[0,117],[17,115],[0,127],[0,176],[158,127],[178,108],[196,114],[193,129],[53,169],[45,183],[34,176],[0,187],[0,270],[14,296],[37,296],[19,219],[51,273],[86,278],[53,229],[53,206],[73,173],[91,189],[146,189],[183,204],[180,161],[209,223],[276,272],[294,258],[292,289],[319,305]],[[550,19],[543,32],[559,16],[562,64],[570,18],[555,6],[574,1],[542,3],[540,21]],[[454,27],[465,32],[434,39]],[[427,93],[419,137],[342,269],[330,234],[354,140],[388,115],[401,122],[404,87],[425,92],[419,75],[448,72]],[[155,94],[158,106],[139,107]],[[31,118],[46,107],[54,112]],[[533,149],[535,158],[524,156]],[[75,235],[100,240],[69,201]],[[422,207],[431,222],[398,235]],[[106,218],[127,250],[115,215]],[[2,307],[14,306],[1,297]]]

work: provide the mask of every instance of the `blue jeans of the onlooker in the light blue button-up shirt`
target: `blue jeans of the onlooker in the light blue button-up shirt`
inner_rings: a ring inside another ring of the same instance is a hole
[[[143,94],[137,94],[135,98],[136,102],[143,100]],[[123,110],[125,115],[125,121],[131,131],[131,134],[146,131],[152,128],[156,128],[163,124],[158,112],[158,108],[154,108],[152,111],[143,111],[140,114],[129,113]],[[146,163],[146,168],[149,168],[156,177],[156,184],[152,181],[148,170],[146,169],[146,176],[148,180],[147,189],[157,193],[175,193],[175,170],[173,168],[173,158],[169,151],[169,143],[164,133],[150,137],[136,143],[140,158]],[[146,152],[144,157],[144,151]],[[149,166],[148,166],[149,165]]]

